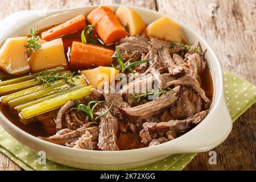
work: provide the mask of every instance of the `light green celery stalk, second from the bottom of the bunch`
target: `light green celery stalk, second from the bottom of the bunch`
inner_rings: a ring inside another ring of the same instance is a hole
[[[77,85],[77,86],[75,86],[75,87],[73,87],[73,88],[71,88],[71,89],[65,90],[65,91],[63,91],[63,92],[56,93],[56,94],[53,94],[53,95],[51,95],[51,96],[39,98],[38,100],[31,101],[31,102],[27,102],[27,103],[22,104],[22,105],[18,105],[18,106],[16,106],[14,109],[15,109],[16,111],[20,112],[20,111],[22,111],[22,109],[24,109],[24,108],[26,108],[26,107],[29,107],[29,106],[32,106],[32,105],[35,105],[35,104],[39,104],[40,102],[50,100],[50,99],[52,99],[52,98],[61,96],[61,95],[66,94],[66,93],[73,92],[73,91],[75,91],[75,90],[78,90],[78,89],[83,88],[84,86],[86,86],[86,85],[85,85],[85,84],[83,84],[83,85]]]

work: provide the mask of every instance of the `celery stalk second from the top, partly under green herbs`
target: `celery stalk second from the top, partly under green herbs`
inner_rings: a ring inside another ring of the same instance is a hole
[[[68,75],[71,75],[70,71],[65,71],[62,73],[68,73]],[[18,91],[24,90],[24,89],[28,89],[28,88],[31,88],[31,87],[37,86],[37,85],[42,85],[42,82],[40,82],[39,80],[35,81],[35,79],[32,79],[32,80],[28,80],[28,81],[19,82],[16,84],[0,86],[0,96],[3,96],[5,94],[10,94],[10,93],[15,94],[15,92],[18,92]]]

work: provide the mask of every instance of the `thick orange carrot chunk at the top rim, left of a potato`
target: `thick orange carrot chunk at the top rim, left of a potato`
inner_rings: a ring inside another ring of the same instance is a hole
[[[98,7],[87,16],[87,19],[90,24],[97,23],[95,30],[106,45],[127,36],[125,28],[109,7]]]

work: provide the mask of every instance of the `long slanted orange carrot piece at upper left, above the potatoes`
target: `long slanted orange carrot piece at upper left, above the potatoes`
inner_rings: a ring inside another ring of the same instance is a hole
[[[73,32],[80,31],[86,27],[85,16],[79,15],[67,22],[53,27],[45,32],[42,32],[41,37],[43,40],[52,40],[59,38],[63,35],[72,34]]]

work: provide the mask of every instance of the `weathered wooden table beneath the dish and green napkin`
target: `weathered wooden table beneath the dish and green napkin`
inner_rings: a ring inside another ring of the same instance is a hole
[[[67,9],[110,3],[144,7],[179,19],[210,43],[225,69],[256,84],[254,0],[2,0],[0,20],[22,10]],[[212,13],[217,16],[210,16]],[[229,138],[214,148],[217,165],[210,165],[208,152],[204,152],[198,154],[185,170],[255,170],[255,111],[255,105],[247,110],[234,123]],[[3,154],[0,154],[0,162],[0,170],[22,170]]]

